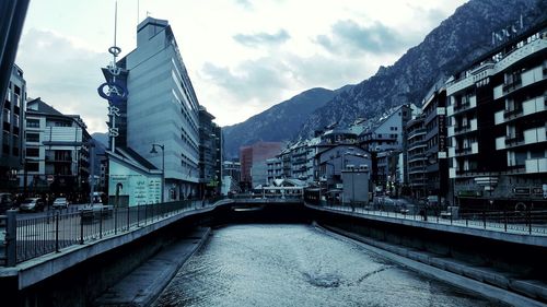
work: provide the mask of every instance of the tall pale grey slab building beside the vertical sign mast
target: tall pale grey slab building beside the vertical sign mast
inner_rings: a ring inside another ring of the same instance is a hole
[[[199,103],[168,22],[142,21],[137,27],[137,48],[117,64],[121,68],[117,81],[127,82],[129,93],[127,102],[119,103],[119,133],[127,139],[120,146],[127,145],[164,169],[164,200],[197,197]],[[156,149],[162,152],[151,151],[152,144],[160,144]]]

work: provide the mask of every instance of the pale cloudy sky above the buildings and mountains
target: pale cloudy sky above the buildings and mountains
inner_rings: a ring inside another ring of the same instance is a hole
[[[118,0],[123,55],[147,14],[170,21],[201,105],[221,126],[311,87],[373,75],[465,0]],[[106,131],[96,87],[110,60],[115,0],[32,0],[16,63],[28,96]],[[139,8],[139,10],[138,10]]]

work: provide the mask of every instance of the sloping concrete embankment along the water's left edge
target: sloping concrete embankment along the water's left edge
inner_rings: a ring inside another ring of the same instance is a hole
[[[211,229],[200,227],[162,249],[158,255],[104,292],[96,307],[149,306],[175,276],[178,269],[207,240]]]

